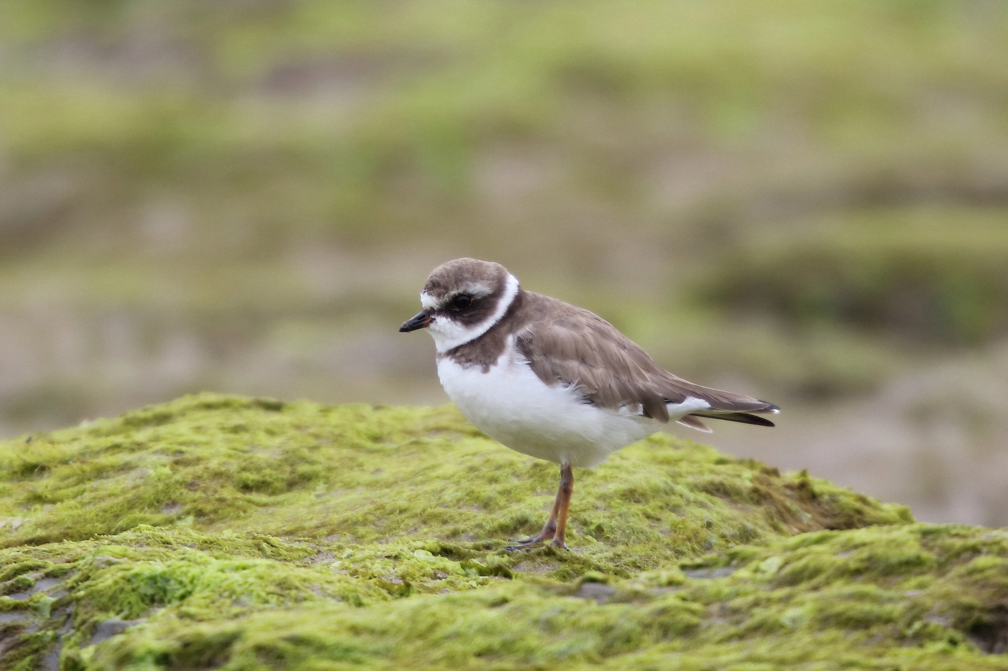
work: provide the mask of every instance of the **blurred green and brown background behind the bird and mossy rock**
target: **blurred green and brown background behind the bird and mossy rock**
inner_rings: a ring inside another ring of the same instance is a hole
[[[1000,0],[0,3],[0,438],[445,402],[460,256],[784,406],[680,436],[1008,524]]]

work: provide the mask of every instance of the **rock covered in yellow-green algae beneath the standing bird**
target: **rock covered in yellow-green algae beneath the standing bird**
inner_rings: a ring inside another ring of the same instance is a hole
[[[0,669],[1008,668],[1008,534],[667,436],[201,394],[0,444]],[[995,654],[989,654],[995,653]]]

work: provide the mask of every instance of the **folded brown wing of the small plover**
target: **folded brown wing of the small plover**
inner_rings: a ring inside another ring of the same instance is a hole
[[[712,389],[672,375],[636,343],[601,317],[556,299],[525,292],[525,323],[517,346],[543,382],[576,387],[602,407],[640,405],[645,416],[668,422],[666,403],[703,398],[712,412],[772,412],[777,407],[751,396]],[[760,423],[767,421],[760,417]],[[767,423],[769,424],[769,423]],[[772,426],[772,424],[771,424]]]

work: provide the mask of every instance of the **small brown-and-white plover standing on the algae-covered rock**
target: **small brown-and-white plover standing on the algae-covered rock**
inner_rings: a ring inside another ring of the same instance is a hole
[[[437,376],[463,414],[524,455],[559,464],[560,480],[542,529],[509,550],[539,543],[568,549],[574,468],[670,422],[710,432],[703,418],[760,427],[773,403],[676,377],[601,317],[526,291],[500,264],[456,259],[435,268],[420,291],[422,310],[406,333],[433,337]]]

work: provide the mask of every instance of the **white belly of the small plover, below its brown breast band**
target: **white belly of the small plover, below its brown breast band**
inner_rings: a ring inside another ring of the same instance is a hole
[[[627,410],[583,402],[572,389],[546,386],[513,348],[497,365],[437,363],[442,386],[462,412],[495,441],[525,455],[591,468],[662,424]]]

